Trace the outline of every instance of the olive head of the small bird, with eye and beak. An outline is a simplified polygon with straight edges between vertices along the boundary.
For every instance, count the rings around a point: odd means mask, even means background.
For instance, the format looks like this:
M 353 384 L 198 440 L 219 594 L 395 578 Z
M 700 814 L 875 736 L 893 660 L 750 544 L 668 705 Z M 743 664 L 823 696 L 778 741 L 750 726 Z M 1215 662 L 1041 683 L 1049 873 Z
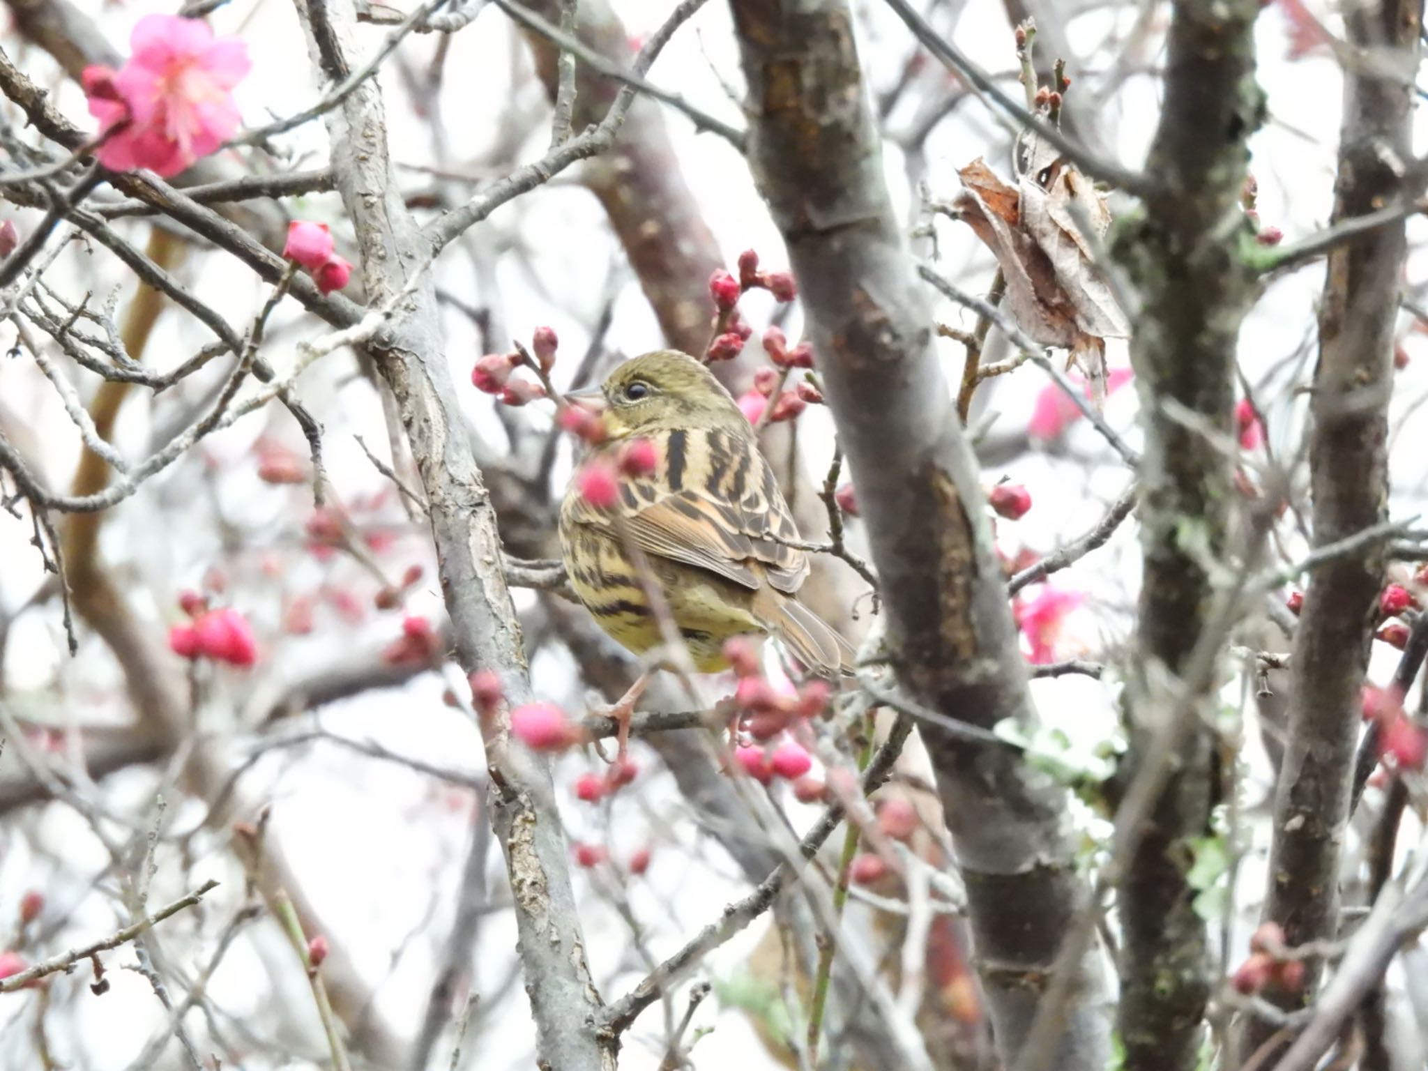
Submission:
M 655 350 L 625 361 L 587 398 L 604 410 L 605 431 L 615 440 L 668 428 L 748 431 L 748 421 L 724 386 L 678 350 Z

